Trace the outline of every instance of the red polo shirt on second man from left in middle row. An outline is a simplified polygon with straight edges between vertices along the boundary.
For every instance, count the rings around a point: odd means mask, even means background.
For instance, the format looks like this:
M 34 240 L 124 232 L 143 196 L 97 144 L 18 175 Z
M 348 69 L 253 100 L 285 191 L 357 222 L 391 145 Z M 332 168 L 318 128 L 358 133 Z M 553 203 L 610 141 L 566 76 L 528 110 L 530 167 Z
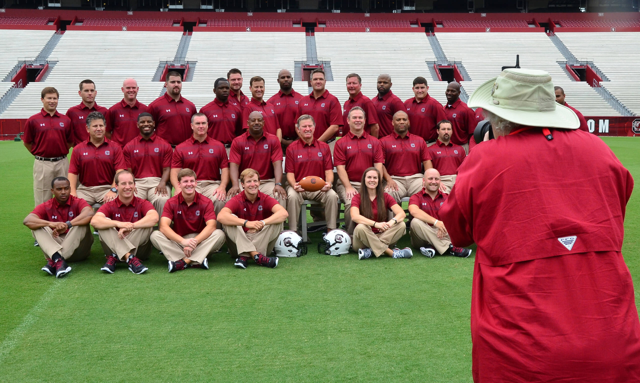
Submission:
M 162 177 L 163 168 L 171 167 L 173 149 L 156 133 L 149 139 L 138 134 L 124 146 L 122 153 L 135 178 Z

